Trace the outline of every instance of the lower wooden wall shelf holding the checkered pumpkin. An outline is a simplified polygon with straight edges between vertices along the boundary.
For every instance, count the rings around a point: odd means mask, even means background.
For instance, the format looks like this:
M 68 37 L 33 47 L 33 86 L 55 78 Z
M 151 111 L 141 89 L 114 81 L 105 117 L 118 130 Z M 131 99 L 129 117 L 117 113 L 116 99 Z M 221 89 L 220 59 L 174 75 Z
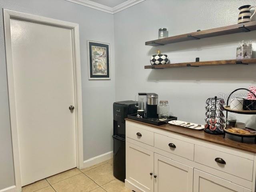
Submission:
M 199 66 L 213 66 L 213 65 L 233 65 L 233 64 L 256 64 L 256 59 L 242 59 L 242 60 L 216 60 L 216 61 L 200 61 L 187 63 L 171 63 L 164 65 L 146 65 L 145 69 L 165 69 L 178 67 L 199 67 Z

